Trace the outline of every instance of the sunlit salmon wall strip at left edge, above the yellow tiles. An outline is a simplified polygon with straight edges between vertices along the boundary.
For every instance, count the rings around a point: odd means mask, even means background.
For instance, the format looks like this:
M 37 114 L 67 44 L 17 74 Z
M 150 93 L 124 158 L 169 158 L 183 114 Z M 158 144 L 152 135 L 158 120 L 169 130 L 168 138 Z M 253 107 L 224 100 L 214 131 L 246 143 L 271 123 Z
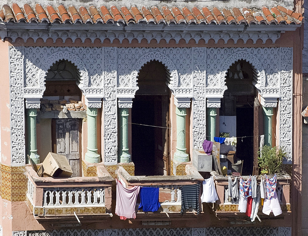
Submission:
M 0 41 L 1 99 L 0 99 L 0 126 L 1 126 L 1 163 L 11 164 L 11 137 L 10 137 L 10 69 L 9 43 Z

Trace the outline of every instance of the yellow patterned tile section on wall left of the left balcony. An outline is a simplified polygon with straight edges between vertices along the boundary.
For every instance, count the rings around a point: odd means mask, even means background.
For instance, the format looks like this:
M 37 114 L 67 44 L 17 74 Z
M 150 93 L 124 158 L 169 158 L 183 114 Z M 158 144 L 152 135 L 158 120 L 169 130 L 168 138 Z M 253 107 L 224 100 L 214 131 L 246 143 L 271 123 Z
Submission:
M 1 198 L 8 201 L 26 201 L 28 189 L 24 166 L 1 166 Z

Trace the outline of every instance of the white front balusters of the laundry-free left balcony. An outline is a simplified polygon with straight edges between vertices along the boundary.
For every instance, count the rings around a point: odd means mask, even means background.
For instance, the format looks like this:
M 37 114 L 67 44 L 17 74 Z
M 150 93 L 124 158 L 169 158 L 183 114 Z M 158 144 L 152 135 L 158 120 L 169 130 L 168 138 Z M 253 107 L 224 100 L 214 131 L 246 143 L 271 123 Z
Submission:
M 43 206 L 104 205 L 104 188 L 44 189 Z

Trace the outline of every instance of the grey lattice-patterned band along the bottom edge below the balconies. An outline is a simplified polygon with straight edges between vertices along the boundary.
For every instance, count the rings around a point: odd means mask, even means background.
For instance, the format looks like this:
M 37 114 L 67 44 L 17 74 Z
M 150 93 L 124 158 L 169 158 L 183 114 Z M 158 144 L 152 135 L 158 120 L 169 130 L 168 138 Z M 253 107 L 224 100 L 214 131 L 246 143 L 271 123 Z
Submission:
M 14 231 L 17 232 L 17 231 Z M 18 231 L 26 232 L 26 231 Z M 108 230 L 37 230 L 27 231 L 28 236 L 291 236 L 290 227 L 209 227 L 209 228 L 147 228 Z M 16 234 L 16 236 L 26 234 Z M 15 236 L 13 234 L 13 236 Z

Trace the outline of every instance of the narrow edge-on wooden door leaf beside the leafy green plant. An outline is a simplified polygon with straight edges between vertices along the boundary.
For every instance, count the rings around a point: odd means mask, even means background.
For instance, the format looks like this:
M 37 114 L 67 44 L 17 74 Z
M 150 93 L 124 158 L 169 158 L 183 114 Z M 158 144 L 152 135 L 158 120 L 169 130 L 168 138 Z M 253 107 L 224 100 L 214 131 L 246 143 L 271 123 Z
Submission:
M 259 175 L 258 150 L 259 150 L 259 108 L 257 98 L 253 103 L 253 175 Z

